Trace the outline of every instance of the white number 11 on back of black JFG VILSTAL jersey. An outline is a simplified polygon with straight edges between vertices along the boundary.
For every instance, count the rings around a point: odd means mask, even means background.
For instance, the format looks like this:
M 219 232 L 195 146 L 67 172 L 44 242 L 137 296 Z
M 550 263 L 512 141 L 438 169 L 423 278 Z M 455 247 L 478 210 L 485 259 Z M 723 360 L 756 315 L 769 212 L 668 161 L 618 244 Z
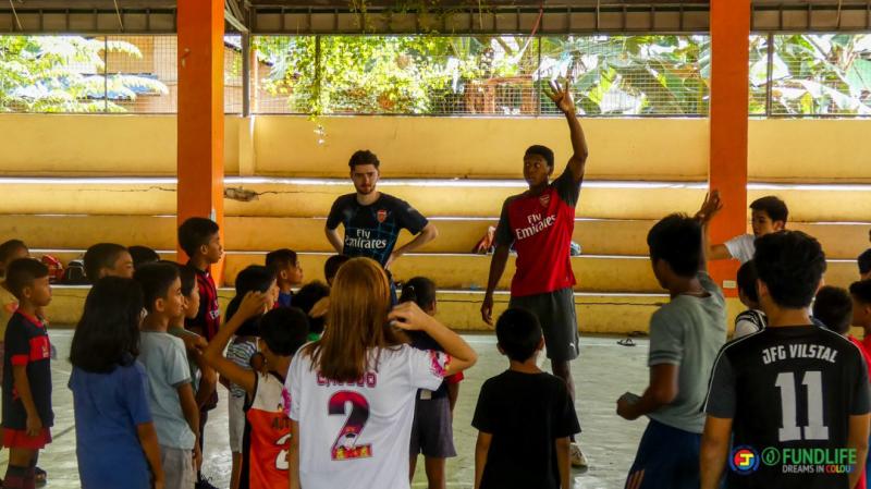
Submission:
M 781 389 L 782 426 L 780 441 L 827 440 L 829 428 L 823 425 L 823 376 L 819 370 L 805 372 L 801 384 L 808 388 L 808 426 L 798 426 L 796 412 L 796 375 L 784 371 L 774 383 Z

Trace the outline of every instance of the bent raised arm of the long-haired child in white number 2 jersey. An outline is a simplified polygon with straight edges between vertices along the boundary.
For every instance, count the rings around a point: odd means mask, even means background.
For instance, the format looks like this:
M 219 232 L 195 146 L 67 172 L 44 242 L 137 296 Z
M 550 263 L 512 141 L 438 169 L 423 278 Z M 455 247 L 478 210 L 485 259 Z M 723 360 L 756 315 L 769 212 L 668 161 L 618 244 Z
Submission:
M 451 355 L 451 363 L 444 370 L 444 377 L 461 372 L 478 362 L 478 354 L 465 342 L 459 334 L 424 313 L 414 302 L 397 305 L 388 315 L 388 320 L 397 328 L 409 331 L 424 331 L 436 340 L 444 352 Z

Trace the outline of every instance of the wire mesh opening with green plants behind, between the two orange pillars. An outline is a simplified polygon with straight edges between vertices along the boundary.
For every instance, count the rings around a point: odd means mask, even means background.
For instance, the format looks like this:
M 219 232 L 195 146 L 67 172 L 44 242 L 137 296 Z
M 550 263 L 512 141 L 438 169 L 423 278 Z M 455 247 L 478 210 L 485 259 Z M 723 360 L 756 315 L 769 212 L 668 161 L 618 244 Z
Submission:
M 260 86 L 271 98 L 261 96 L 259 112 L 553 114 L 543 88 L 572 80 L 589 115 L 708 113 L 707 36 L 260 39 L 258 58 L 270 66 Z

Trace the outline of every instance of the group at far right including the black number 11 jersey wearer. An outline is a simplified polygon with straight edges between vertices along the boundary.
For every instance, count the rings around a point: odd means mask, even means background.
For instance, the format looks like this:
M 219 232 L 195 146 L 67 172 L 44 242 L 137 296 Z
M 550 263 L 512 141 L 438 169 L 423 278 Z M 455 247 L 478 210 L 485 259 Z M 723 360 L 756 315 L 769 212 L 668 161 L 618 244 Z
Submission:
M 619 416 L 650 419 L 626 488 L 864 489 L 871 250 L 859 257 L 860 281 L 849 291 L 823 286 L 822 246 L 786 230 L 783 200 L 753 201 L 753 234 L 709 246 L 707 225 L 721 207 L 713 193 L 695 217 L 668 216 L 648 234 L 654 274 L 672 299 L 651 318 L 649 387 L 617 401 Z M 723 293 L 707 272 L 714 258 L 743 262 L 737 284 L 747 310 L 729 342 Z M 862 341 L 850 326 L 863 328 Z M 760 465 L 766 448 L 849 450 L 854 462 L 812 472 Z M 752 454 L 749 465 L 741 451 Z

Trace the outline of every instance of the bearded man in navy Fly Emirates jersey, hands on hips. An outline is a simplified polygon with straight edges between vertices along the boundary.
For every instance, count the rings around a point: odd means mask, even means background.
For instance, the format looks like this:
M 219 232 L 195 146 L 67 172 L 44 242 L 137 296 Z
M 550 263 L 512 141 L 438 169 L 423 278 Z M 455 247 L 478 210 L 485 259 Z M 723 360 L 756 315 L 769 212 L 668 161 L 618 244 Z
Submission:
M 335 199 L 324 231 L 336 253 L 371 258 L 389 268 L 396 258 L 434 240 L 439 231 L 405 200 L 378 192 L 380 164 L 368 149 L 352 155 L 348 167 L 357 192 Z M 338 231 L 340 223 L 345 228 L 344 237 Z M 394 249 L 403 229 L 416 237 Z

